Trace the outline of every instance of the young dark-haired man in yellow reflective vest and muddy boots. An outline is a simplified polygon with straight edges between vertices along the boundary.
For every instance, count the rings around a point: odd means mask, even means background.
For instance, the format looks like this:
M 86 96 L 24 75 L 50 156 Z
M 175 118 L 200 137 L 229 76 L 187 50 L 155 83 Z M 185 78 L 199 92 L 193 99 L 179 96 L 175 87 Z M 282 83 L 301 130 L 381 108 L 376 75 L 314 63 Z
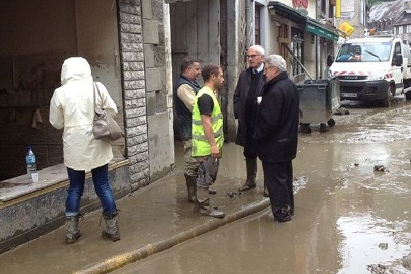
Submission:
M 210 206 L 210 186 L 219 171 L 219 159 L 223 147 L 223 114 L 215 90 L 224 83 L 223 70 L 219 66 L 205 66 L 201 75 L 204 87 L 199 90 L 192 107 L 192 157 L 200 162 L 197 176 L 195 212 L 203 216 L 223 218 L 224 212 Z

